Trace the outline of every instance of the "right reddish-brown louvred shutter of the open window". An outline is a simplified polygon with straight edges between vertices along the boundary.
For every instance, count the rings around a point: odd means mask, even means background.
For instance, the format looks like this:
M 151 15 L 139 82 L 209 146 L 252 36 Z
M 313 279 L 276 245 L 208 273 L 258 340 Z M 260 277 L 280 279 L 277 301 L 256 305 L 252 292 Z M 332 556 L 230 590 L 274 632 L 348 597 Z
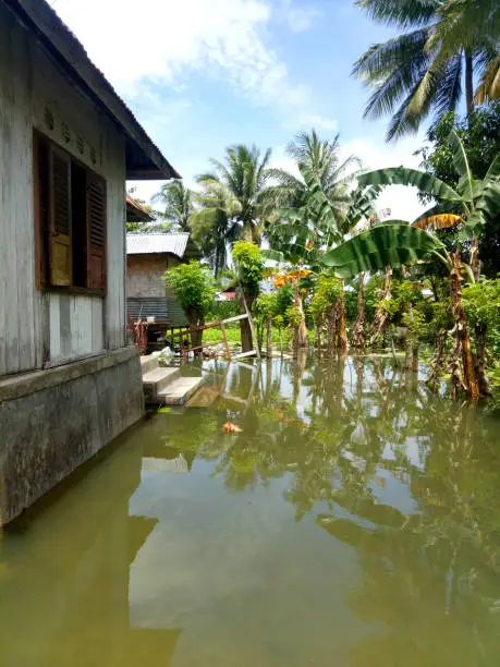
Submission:
M 87 287 L 106 289 L 106 182 L 87 172 Z

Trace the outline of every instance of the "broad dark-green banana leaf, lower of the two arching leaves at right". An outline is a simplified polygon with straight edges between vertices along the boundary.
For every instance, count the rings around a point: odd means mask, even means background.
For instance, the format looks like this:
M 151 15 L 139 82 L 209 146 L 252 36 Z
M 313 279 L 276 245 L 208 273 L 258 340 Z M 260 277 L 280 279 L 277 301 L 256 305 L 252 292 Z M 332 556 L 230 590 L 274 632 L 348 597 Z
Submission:
M 340 278 L 352 278 L 363 271 L 411 264 L 441 253 L 446 253 L 444 245 L 432 234 L 407 222 L 391 220 L 325 253 L 321 264 L 333 268 Z

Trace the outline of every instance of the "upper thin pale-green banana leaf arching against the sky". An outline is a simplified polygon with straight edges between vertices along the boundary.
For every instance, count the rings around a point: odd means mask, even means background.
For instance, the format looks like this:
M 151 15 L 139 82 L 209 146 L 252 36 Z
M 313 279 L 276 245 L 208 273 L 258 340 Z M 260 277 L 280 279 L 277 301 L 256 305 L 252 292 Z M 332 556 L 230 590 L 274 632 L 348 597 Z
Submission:
M 359 185 L 414 185 L 420 192 L 425 192 L 439 199 L 460 202 L 462 196 L 431 173 L 408 169 L 407 167 L 391 167 L 389 169 L 376 169 L 362 173 L 357 179 Z

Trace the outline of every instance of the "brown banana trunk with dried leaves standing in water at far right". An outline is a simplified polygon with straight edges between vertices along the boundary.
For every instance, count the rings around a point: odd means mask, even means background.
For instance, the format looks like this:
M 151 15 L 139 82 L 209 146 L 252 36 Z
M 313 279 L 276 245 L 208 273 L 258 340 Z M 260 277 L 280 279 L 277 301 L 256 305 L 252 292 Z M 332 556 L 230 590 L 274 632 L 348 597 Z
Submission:
M 479 398 L 479 387 L 476 377 L 476 364 L 474 363 L 474 355 L 471 348 L 471 339 L 468 337 L 467 331 L 467 320 L 465 317 L 465 311 L 462 305 L 462 288 L 460 286 L 461 281 L 461 259 L 460 252 L 452 253 L 451 255 L 453 260 L 453 269 L 450 274 L 450 287 L 451 287 L 451 305 L 453 313 L 453 320 L 455 323 L 454 326 L 454 336 L 455 336 L 455 344 L 453 345 L 453 374 L 452 378 L 455 384 L 455 391 L 458 389 L 458 384 L 462 384 L 465 389 L 467 397 L 472 400 L 477 400 Z M 462 356 L 462 367 L 463 367 L 463 377 L 461 378 L 458 375 L 458 355 Z

